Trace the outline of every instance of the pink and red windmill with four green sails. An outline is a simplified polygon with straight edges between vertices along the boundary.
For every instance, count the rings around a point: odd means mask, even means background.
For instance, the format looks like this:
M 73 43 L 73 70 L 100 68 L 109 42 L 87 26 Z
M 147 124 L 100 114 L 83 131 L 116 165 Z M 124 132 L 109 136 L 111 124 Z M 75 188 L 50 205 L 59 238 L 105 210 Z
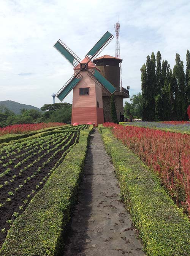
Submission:
M 80 124 L 104 122 L 102 89 L 107 95 L 115 92 L 116 88 L 100 73 L 92 62 L 108 45 L 114 36 L 108 31 L 87 53 L 84 60 L 73 53 L 70 48 L 58 40 L 54 47 L 74 66 L 74 74 L 57 92 L 56 96 L 62 101 L 73 90 L 72 121 Z

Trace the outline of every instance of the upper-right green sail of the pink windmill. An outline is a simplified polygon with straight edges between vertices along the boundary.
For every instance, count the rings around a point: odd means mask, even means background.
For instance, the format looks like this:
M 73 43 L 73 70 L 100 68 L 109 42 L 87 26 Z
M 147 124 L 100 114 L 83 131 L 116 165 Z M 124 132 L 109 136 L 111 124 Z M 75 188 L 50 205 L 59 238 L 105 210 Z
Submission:
M 109 42 L 114 38 L 114 36 L 107 31 L 103 37 L 94 45 L 94 47 L 85 56 L 89 61 L 95 59 L 98 54 L 108 45 Z

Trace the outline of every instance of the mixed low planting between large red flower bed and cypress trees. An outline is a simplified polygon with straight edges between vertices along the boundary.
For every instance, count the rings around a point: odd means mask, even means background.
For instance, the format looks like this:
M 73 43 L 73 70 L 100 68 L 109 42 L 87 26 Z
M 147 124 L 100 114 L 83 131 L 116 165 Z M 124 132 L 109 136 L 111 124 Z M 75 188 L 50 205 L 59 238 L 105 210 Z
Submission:
M 127 126 L 147 127 L 151 129 L 166 130 L 169 132 L 180 132 L 190 134 L 190 124 L 188 121 L 166 121 L 166 122 L 122 122 Z

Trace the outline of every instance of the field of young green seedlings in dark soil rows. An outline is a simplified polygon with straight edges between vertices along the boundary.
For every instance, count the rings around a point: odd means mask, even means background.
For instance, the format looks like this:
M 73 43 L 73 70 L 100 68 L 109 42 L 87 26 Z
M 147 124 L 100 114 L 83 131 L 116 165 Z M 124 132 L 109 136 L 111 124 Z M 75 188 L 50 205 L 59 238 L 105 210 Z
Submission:
M 51 132 L 0 145 L 0 244 L 13 221 L 78 143 L 80 131 L 88 127 L 56 127 Z

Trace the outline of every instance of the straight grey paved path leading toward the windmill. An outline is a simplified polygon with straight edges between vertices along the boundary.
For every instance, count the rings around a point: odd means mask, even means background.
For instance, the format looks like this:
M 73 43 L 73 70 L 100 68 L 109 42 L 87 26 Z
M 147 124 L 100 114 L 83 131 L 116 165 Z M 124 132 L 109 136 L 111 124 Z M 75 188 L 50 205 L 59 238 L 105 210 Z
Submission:
M 114 167 L 95 129 L 64 256 L 145 255 L 119 193 Z

